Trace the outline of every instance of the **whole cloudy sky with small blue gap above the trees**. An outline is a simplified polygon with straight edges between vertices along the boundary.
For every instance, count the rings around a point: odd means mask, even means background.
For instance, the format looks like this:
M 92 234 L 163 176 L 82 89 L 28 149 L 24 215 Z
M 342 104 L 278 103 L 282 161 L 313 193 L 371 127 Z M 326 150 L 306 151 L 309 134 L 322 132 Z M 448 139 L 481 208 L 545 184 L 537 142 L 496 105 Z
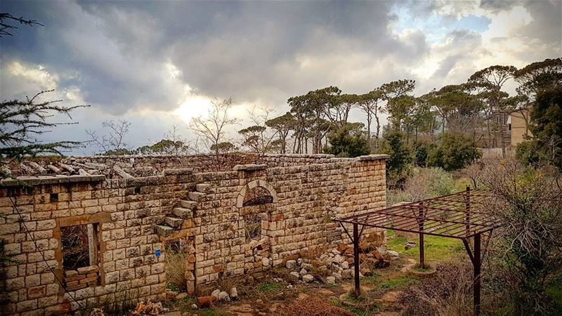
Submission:
M 233 98 L 240 117 L 253 105 L 283 114 L 287 98 L 329 85 L 365 93 L 415 79 L 421 94 L 490 65 L 560 57 L 561 4 L 3 0 L 0 12 L 44 27 L 0 39 L 0 95 L 55 88 L 51 98 L 91 105 L 42 140 L 87 140 L 86 129 L 126 119 L 138 147 L 174 125 L 189 136 L 190 117 L 214 99 Z

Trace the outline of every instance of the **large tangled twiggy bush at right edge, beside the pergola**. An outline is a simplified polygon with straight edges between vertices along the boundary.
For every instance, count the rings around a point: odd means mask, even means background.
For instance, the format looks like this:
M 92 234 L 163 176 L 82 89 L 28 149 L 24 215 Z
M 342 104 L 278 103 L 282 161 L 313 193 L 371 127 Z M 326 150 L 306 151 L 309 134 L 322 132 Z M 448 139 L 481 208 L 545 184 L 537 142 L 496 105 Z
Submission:
M 493 197 L 487 209 L 503 223 L 491 275 L 507 287 L 507 309 L 515 315 L 554 315 L 547 289 L 562 273 L 560 174 L 512 159 L 486 166 L 483 173 Z

